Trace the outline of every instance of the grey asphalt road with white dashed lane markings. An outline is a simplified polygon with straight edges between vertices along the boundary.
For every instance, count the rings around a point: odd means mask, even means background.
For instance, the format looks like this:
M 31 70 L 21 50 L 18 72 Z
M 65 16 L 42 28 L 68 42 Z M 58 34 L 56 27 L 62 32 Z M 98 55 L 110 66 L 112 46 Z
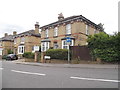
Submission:
M 3 61 L 2 88 L 118 88 L 118 69 L 41 67 Z

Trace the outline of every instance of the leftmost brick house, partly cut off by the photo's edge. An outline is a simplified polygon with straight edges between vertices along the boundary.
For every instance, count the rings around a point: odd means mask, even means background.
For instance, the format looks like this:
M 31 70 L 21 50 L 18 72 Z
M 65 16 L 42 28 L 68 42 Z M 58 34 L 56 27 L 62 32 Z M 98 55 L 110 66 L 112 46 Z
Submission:
M 0 38 L 0 56 L 7 55 L 8 51 L 13 51 L 14 48 L 14 36 L 16 32 L 13 32 L 13 35 L 8 35 L 5 33 L 4 37 Z

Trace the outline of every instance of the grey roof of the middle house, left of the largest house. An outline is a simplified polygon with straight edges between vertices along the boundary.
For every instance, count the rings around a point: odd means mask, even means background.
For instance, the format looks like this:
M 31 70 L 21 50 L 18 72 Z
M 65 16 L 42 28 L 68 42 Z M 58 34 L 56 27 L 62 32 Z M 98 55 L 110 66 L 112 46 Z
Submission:
M 35 30 L 29 30 L 29 31 L 25 31 L 22 32 L 20 34 L 17 34 L 14 38 L 16 37 L 22 37 L 22 36 L 36 36 L 36 37 L 40 37 L 40 34 L 35 34 Z

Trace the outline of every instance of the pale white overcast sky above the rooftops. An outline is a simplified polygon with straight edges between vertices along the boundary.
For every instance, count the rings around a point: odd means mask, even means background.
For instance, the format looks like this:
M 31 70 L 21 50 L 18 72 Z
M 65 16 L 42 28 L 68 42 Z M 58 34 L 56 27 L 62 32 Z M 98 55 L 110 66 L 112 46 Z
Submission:
M 96 24 L 103 23 L 105 32 L 118 31 L 119 0 L 0 0 L 0 37 L 13 31 L 21 33 L 64 17 L 83 15 Z

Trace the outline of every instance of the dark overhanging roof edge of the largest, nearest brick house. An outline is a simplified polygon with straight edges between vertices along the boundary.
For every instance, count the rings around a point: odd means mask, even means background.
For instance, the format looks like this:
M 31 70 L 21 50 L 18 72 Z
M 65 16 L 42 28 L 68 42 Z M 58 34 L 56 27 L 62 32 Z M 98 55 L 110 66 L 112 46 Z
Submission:
M 42 28 L 46 29 L 46 28 L 49 28 L 49 27 L 55 27 L 56 25 L 61 25 L 61 24 L 64 24 L 64 23 L 69 23 L 69 22 L 75 21 L 75 20 L 85 21 L 87 24 L 91 24 L 91 25 L 95 26 L 95 28 L 97 28 L 97 29 L 104 30 L 103 27 L 101 27 L 100 25 L 95 24 L 94 22 L 90 21 L 89 19 L 85 18 L 82 15 L 67 17 L 67 18 L 64 18 L 63 20 L 58 20 L 58 21 L 50 23 L 48 25 L 44 25 L 44 26 L 42 26 L 40 28 L 41 29 Z

